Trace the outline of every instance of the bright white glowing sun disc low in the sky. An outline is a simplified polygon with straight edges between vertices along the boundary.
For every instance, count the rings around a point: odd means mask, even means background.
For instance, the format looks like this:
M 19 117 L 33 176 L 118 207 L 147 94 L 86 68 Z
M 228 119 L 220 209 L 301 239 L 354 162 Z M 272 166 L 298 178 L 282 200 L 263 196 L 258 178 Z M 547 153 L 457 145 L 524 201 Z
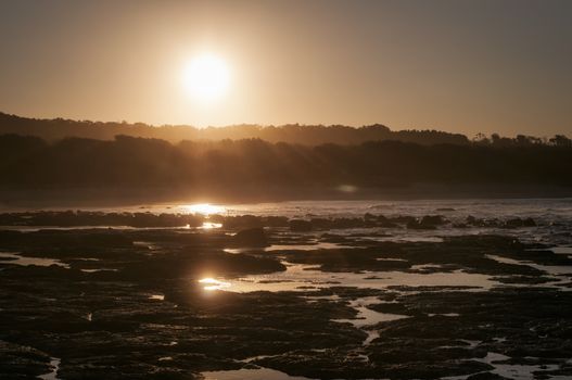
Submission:
M 230 87 L 230 69 L 221 58 L 203 53 L 183 68 L 182 84 L 196 101 L 212 103 L 223 98 Z

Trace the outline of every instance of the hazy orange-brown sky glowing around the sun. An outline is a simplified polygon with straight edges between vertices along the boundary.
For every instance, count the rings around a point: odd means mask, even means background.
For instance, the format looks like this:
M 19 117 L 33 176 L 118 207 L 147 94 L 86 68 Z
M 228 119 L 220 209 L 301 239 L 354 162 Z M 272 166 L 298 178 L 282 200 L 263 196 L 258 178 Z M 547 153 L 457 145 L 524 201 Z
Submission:
M 0 0 L 0 111 L 572 135 L 572 1 Z M 227 96 L 182 86 L 201 52 Z

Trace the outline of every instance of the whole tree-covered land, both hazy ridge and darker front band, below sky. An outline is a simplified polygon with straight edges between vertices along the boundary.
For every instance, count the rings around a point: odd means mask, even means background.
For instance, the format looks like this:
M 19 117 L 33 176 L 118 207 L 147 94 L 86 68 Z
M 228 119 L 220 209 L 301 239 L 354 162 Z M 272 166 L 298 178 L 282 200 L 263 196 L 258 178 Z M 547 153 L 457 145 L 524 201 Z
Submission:
M 392 131 L 382 125 L 198 129 L 0 113 L 0 189 L 398 188 L 572 185 L 565 136 Z M 242 190 L 241 190 L 242 189 Z

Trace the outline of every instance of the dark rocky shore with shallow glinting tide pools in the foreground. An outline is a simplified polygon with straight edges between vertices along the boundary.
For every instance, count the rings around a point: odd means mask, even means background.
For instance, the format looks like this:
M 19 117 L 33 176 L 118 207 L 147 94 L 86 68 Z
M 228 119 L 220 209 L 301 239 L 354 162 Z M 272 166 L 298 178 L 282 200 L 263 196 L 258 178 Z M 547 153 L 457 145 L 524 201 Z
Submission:
M 572 376 L 572 258 L 471 233 L 533 219 L 40 212 L 2 214 L 0 225 L 2 379 Z M 461 232 L 386 239 L 444 226 Z M 339 281 L 265 290 L 293 266 Z M 386 280 L 402 274 L 487 282 Z

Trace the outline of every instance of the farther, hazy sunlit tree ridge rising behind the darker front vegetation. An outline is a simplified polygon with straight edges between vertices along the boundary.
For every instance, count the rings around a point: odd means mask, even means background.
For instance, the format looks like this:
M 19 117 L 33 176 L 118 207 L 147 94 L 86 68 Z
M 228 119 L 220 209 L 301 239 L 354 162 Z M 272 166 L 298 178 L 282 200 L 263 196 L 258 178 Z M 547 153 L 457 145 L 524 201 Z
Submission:
M 354 128 L 348 126 L 301 126 L 279 127 L 257 125 L 236 125 L 228 127 L 194 128 L 190 126 L 153 127 L 142 123 L 99 123 L 89 121 L 35 119 L 0 113 L 0 135 L 17 134 L 37 136 L 48 141 L 66 137 L 80 137 L 98 140 L 113 140 L 117 135 L 144 137 L 179 142 L 182 140 L 242 140 L 262 139 L 269 142 L 289 142 L 306 145 L 322 143 L 357 144 L 366 141 L 398 140 L 421 144 L 457 143 L 467 144 L 469 139 L 459 134 L 438 130 L 399 130 L 376 124 Z

